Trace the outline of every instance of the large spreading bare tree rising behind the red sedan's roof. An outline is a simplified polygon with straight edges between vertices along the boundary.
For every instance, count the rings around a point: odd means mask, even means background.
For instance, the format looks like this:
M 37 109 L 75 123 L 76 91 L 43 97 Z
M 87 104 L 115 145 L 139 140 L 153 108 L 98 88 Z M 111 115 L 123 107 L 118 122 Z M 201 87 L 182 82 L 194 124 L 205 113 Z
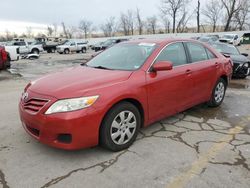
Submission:
M 175 33 L 176 18 L 180 10 L 187 4 L 188 0 L 161 0 L 160 10 L 165 16 L 171 16 L 173 33 Z

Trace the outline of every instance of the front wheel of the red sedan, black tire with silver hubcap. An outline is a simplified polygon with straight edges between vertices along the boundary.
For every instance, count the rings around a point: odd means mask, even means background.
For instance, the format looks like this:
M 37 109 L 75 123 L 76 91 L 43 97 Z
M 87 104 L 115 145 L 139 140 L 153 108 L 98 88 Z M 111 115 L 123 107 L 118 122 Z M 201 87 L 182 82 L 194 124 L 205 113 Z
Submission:
M 124 121 L 122 121 L 124 117 Z M 121 151 L 133 144 L 141 125 L 139 110 L 129 102 L 121 102 L 106 114 L 100 128 L 100 144 L 112 151 Z M 113 133 L 113 137 L 112 137 Z

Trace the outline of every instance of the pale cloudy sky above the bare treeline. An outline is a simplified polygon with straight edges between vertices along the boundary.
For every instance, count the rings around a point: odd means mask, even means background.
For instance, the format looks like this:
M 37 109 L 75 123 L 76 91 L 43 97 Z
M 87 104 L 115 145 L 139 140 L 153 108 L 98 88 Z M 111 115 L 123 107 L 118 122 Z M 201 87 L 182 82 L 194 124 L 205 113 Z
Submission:
M 196 2 L 196 0 L 191 0 Z M 201 0 L 205 3 L 206 0 Z M 161 0 L 1 0 L 0 33 L 6 30 L 21 34 L 27 27 L 32 31 L 46 32 L 53 23 L 77 26 L 82 18 L 98 26 L 105 19 L 128 9 L 141 10 L 143 18 L 157 15 Z M 195 4 L 196 6 L 196 4 Z

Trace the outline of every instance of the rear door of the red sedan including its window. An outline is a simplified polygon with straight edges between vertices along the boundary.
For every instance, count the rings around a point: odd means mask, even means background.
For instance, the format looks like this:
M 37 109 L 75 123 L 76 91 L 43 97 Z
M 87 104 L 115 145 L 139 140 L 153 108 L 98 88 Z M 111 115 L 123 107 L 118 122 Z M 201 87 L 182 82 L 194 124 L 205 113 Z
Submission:
M 217 79 L 219 68 L 218 58 L 205 46 L 195 42 L 186 42 L 190 69 L 194 82 L 193 99 L 196 104 L 205 102 L 210 98 L 213 86 Z M 194 105 L 194 104 L 190 104 Z

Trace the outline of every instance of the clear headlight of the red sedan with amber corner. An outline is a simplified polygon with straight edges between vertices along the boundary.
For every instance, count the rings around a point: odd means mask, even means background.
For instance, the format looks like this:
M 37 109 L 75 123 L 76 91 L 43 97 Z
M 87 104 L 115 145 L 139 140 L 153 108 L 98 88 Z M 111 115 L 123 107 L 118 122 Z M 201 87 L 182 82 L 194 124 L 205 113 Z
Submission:
M 53 114 L 59 112 L 70 112 L 87 108 L 95 103 L 99 96 L 81 97 L 72 99 L 63 99 L 52 104 L 45 114 Z

